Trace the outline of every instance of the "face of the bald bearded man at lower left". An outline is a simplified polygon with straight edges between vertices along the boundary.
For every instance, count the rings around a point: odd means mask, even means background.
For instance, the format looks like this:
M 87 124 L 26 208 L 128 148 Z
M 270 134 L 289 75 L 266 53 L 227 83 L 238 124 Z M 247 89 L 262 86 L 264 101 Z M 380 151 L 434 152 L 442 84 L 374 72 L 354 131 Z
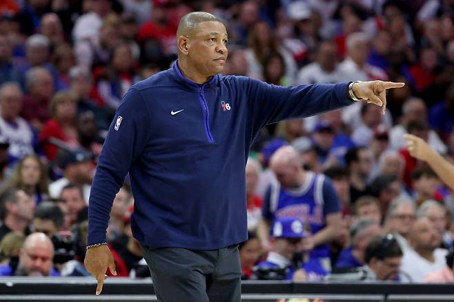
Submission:
M 18 270 L 25 276 L 49 276 L 54 251 L 52 244 L 36 243 L 19 252 Z

